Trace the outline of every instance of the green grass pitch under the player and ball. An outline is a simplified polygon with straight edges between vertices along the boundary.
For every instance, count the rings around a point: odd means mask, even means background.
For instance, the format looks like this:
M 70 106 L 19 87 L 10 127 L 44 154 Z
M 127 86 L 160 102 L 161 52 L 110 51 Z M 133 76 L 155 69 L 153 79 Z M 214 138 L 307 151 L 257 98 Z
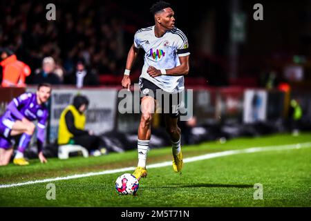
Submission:
M 311 133 L 238 138 L 225 144 L 183 146 L 184 158 L 256 146 L 311 142 Z M 171 160 L 171 148 L 151 149 L 148 164 Z M 0 184 L 120 169 L 135 166 L 137 151 L 100 157 L 30 160 L 29 166 L 0 167 Z M 148 166 L 147 166 L 148 169 Z M 130 172 L 130 171 L 129 171 Z M 125 173 L 125 172 L 124 172 Z M 311 206 L 311 145 L 282 151 L 241 153 L 148 169 L 138 194 L 118 195 L 115 180 L 122 173 L 59 180 L 56 199 L 47 200 L 46 183 L 0 188 L 0 206 Z M 263 200 L 254 200 L 254 184 L 263 185 Z

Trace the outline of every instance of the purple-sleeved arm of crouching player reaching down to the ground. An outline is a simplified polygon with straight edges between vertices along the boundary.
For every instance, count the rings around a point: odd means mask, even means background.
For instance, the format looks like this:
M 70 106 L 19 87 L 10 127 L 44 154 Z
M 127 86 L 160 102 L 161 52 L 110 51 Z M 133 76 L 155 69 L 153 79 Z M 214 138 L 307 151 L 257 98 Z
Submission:
M 44 140 L 46 139 L 46 120 L 48 119 L 47 111 L 44 112 L 43 117 L 39 118 L 37 124 L 37 148 L 38 148 L 38 157 L 41 163 L 46 163 L 46 157 L 43 154 Z

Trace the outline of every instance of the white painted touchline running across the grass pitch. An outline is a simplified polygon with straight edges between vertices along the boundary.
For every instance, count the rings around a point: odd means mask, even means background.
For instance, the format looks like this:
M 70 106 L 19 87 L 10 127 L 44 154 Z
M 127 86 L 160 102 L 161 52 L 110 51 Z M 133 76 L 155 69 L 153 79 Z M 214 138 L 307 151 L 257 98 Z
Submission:
M 222 151 L 222 152 L 217 152 L 217 153 L 207 153 L 205 155 L 199 155 L 196 157 L 188 157 L 188 158 L 184 159 L 184 163 L 196 162 L 199 160 L 207 160 L 207 159 L 216 158 L 216 157 L 224 157 L 227 155 L 236 155 L 236 154 L 240 154 L 240 153 L 256 153 L 256 152 L 265 152 L 265 151 L 285 151 L 285 150 L 290 150 L 290 149 L 310 148 L 310 147 L 311 147 L 311 142 L 301 143 L 301 144 L 287 144 L 287 145 L 279 145 L 279 146 L 252 147 L 252 148 L 247 148 L 247 149 L 242 149 L 242 150 Z M 162 163 L 158 163 L 158 164 L 150 164 L 148 166 L 148 169 L 159 168 L 159 167 L 164 167 L 164 166 L 171 166 L 171 161 L 162 162 Z M 59 180 L 72 180 L 72 179 L 77 179 L 77 178 L 82 178 L 82 177 L 91 177 L 94 175 L 121 173 L 121 172 L 125 172 L 125 171 L 133 171 L 134 169 L 135 169 L 135 167 L 132 166 L 132 167 L 126 167 L 126 168 L 122 168 L 122 169 L 114 169 L 114 170 L 109 170 L 109 171 L 100 171 L 100 172 L 92 172 L 92 173 L 82 173 L 82 174 L 68 175 L 66 177 L 48 178 L 48 179 L 44 179 L 44 180 L 32 180 L 32 181 L 28 181 L 28 182 L 19 182 L 19 183 L 13 183 L 13 184 L 0 184 L 0 189 L 1 188 L 10 188 L 10 187 L 14 187 L 14 186 L 39 184 L 39 183 L 44 183 L 44 182 L 54 182 L 54 181 L 59 181 Z

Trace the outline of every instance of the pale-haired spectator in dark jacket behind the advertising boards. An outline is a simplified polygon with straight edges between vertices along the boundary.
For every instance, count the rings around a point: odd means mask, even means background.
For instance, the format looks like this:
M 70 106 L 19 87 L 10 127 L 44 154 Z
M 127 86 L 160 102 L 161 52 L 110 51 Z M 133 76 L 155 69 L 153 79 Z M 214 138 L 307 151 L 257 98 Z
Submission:
M 61 84 L 61 80 L 54 73 L 55 70 L 55 61 L 53 57 L 45 57 L 42 61 L 42 70 L 39 70 L 39 73 L 35 75 L 32 79 L 32 84 Z

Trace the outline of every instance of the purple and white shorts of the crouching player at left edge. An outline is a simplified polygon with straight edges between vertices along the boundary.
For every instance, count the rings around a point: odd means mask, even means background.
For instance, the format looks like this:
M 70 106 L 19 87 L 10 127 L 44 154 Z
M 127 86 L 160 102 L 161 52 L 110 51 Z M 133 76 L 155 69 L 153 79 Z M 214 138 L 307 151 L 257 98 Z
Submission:
M 14 123 L 15 120 L 10 117 L 0 117 L 0 148 L 8 149 L 12 146 L 10 133 Z

